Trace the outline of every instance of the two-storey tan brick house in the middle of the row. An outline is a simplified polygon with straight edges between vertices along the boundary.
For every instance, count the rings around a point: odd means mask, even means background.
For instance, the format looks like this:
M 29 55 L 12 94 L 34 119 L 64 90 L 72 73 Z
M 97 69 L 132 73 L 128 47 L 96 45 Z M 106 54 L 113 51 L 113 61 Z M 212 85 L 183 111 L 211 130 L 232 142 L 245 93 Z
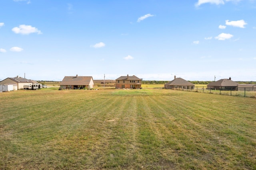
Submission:
M 132 88 L 140 89 L 141 88 L 141 79 L 136 76 L 121 76 L 116 79 L 116 88 Z

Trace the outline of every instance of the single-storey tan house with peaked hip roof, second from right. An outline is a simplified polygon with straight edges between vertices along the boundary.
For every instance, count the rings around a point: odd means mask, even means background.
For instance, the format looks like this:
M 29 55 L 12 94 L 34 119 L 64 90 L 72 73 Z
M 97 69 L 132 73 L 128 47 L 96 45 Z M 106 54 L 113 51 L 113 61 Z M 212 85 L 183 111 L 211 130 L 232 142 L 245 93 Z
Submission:
M 174 76 L 174 80 L 167 82 L 164 84 L 165 89 L 194 89 L 195 85 L 183 78 L 176 78 Z

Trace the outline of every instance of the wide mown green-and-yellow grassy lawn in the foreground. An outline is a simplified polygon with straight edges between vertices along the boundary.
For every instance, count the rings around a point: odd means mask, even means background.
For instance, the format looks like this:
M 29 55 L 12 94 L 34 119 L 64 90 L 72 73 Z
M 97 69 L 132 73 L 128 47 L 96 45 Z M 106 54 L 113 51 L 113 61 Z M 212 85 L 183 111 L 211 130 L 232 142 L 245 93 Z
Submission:
M 48 88 L 0 102 L 0 169 L 256 169 L 255 98 Z

